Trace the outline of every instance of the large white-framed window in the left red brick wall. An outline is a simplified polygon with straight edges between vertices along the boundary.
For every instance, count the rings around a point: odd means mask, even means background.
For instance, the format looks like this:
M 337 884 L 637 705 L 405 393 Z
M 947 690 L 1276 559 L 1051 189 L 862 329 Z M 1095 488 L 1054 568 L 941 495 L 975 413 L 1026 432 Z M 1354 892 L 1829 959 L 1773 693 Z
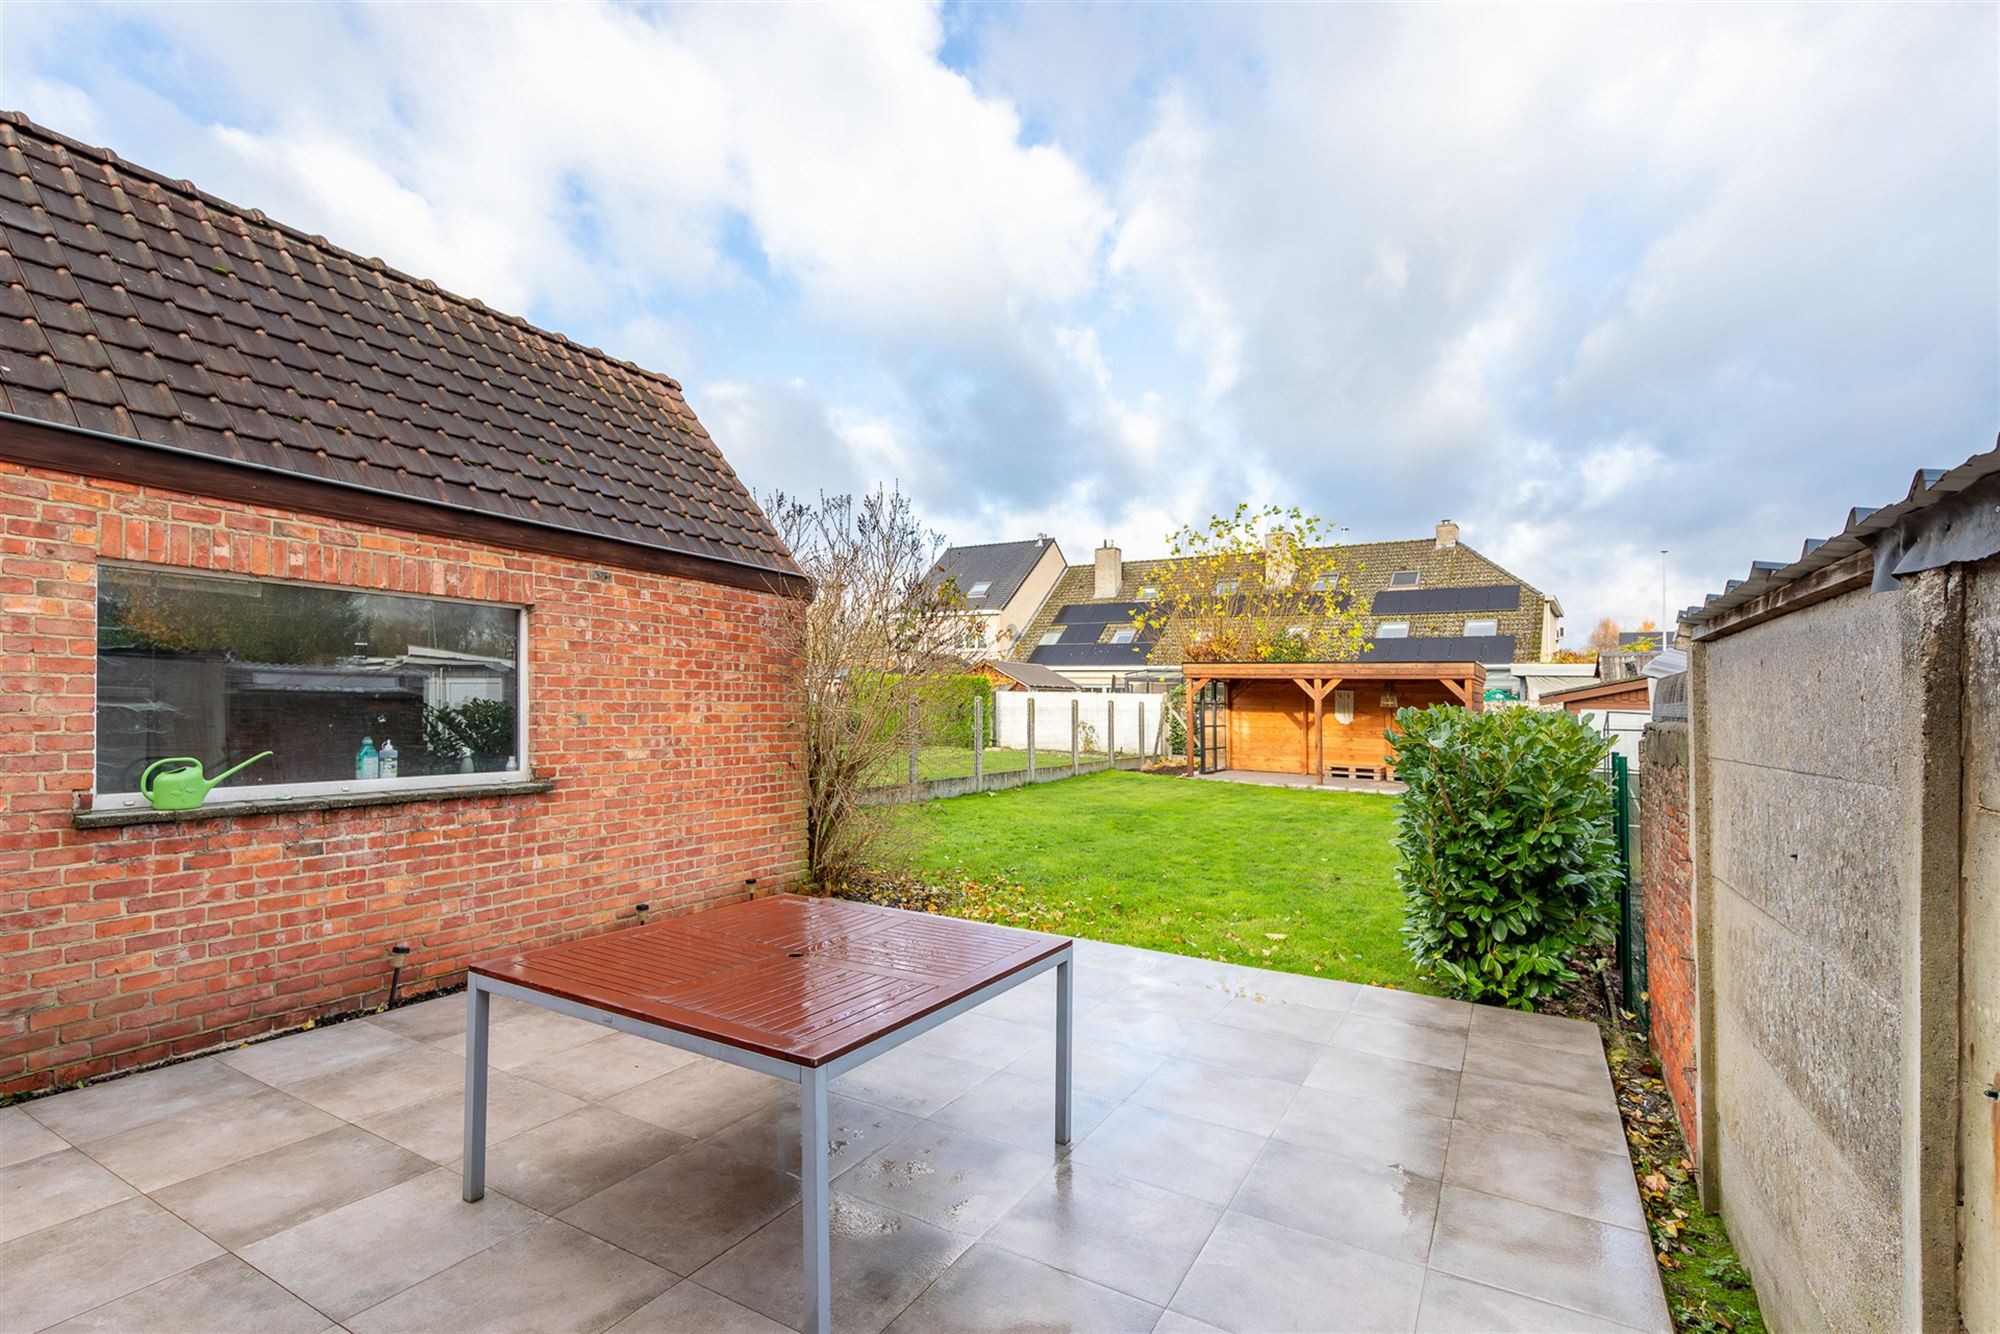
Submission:
M 514 606 L 102 566 L 98 804 L 264 750 L 208 802 L 520 778 L 522 642 Z

